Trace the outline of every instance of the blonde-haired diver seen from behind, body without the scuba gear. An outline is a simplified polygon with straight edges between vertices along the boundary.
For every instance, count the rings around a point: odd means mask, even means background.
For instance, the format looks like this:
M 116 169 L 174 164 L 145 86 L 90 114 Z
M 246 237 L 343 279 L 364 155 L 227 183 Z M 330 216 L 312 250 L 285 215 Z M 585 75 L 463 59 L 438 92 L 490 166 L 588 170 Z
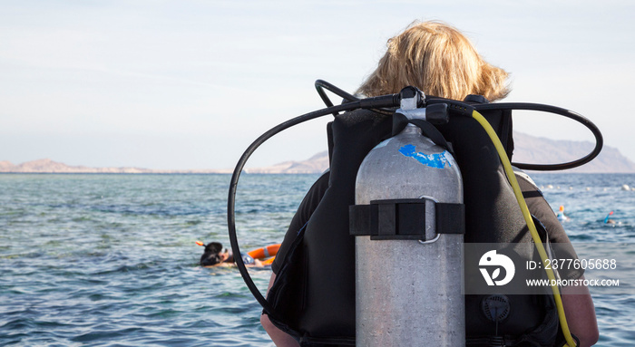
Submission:
M 439 22 L 424 22 L 411 24 L 402 34 L 388 40 L 386 54 L 357 92 L 377 96 L 396 93 L 412 85 L 425 95 L 464 100 L 469 94 L 479 94 L 489 101 L 496 101 L 509 92 L 506 78 L 507 72 L 486 63 L 458 30 Z M 306 226 L 327 188 L 328 178 L 325 175 L 318 179 L 298 207 L 278 260 L 272 265 L 269 289 L 275 282 L 289 246 Z M 545 204 L 546 201 L 534 200 L 532 206 Z M 552 242 L 569 242 L 562 228 L 549 231 Z M 580 288 L 576 289 L 576 293 L 580 293 Z M 567 294 L 564 288 L 562 302 L 572 333 L 580 339 L 581 346 L 590 346 L 597 342 L 598 329 L 591 295 L 586 288 L 582 289 L 583 294 Z M 260 321 L 276 345 L 298 345 L 294 338 L 273 325 L 267 314 L 263 314 Z

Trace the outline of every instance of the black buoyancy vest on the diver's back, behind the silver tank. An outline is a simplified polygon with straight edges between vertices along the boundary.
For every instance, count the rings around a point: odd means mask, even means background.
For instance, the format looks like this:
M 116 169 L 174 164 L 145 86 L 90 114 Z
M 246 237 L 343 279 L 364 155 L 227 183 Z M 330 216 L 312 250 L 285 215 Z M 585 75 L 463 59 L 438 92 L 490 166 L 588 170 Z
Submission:
M 505 112 L 482 113 L 511 156 L 511 117 Z M 531 236 L 483 128 L 470 118 L 453 118 L 437 128 L 453 144 L 464 179 L 465 242 L 523 243 L 526 247 L 517 252 L 532 259 Z M 337 116 L 331 130 L 328 188 L 290 246 L 268 296 L 276 310 L 271 321 L 302 345 L 355 344 L 355 239 L 348 232 L 348 207 L 355 204 L 357 169 L 376 144 L 391 136 L 392 118 L 350 111 Z M 557 317 L 554 321 L 552 303 L 545 296 L 512 295 L 517 316 L 498 324 L 499 335 L 552 345 Z M 480 295 L 465 296 L 467 342 L 476 345 L 493 332 L 493 322 L 481 313 L 481 300 Z

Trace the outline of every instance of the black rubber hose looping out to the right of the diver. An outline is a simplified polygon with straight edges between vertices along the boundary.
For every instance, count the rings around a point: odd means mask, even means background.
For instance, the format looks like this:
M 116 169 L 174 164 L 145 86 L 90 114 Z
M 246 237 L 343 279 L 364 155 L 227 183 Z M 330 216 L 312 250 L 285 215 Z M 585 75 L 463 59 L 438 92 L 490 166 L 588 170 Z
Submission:
M 581 165 L 584 165 L 594 159 L 600 154 L 602 146 L 604 144 L 604 140 L 602 138 L 602 134 L 598 127 L 588 120 L 586 117 L 581 114 L 575 113 L 573 111 L 569 111 L 566 109 L 562 109 L 560 107 L 555 107 L 551 105 L 544 105 L 541 103 L 527 103 L 527 102 L 501 102 L 501 103 L 488 103 L 488 104 L 480 104 L 480 105 L 472 105 L 475 110 L 526 110 L 526 111 L 543 111 L 549 113 L 559 114 L 563 117 L 575 120 L 581 123 L 588 130 L 591 130 L 591 133 L 595 137 L 595 148 L 591 150 L 589 154 L 582 157 L 581 159 L 561 163 L 561 164 L 527 164 L 527 163 L 516 163 L 513 162 L 513 166 L 519 169 L 531 169 L 537 171 L 556 171 L 563 169 L 573 169 L 577 168 Z

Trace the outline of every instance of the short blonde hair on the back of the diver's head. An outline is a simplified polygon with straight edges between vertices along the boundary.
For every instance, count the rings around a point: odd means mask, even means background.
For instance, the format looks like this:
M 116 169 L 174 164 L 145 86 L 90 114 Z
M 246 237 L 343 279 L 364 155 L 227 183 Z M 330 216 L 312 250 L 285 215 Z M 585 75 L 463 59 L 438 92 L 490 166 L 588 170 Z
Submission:
M 507 72 L 485 62 L 472 43 L 448 24 L 415 22 L 388 40 L 387 46 L 375 72 L 357 92 L 377 96 L 412 85 L 426 95 L 463 100 L 480 94 L 489 101 L 510 92 Z

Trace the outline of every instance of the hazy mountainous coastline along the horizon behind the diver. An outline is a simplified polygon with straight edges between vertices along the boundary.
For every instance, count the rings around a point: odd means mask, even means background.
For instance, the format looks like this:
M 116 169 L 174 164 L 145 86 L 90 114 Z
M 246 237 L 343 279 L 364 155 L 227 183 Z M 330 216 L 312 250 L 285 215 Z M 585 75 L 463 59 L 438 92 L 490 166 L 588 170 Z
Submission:
M 593 149 L 589 141 L 550 140 L 514 132 L 513 161 L 522 163 L 548 164 L 579 159 Z M 300 174 L 320 173 L 328 168 L 327 151 L 305 160 L 289 160 L 264 168 L 247 168 L 248 174 Z M 142 168 L 89 168 L 69 166 L 51 159 L 38 159 L 15 165 L 0 161 L 0 173 L 231 173 L 233 169 L 142 169 Z M 584 173 L 635 173 L 635 163 L 624 157 L 620 150 L 604 146 L 600 155 L 590 163 L 576 169 L 553 172 Z

